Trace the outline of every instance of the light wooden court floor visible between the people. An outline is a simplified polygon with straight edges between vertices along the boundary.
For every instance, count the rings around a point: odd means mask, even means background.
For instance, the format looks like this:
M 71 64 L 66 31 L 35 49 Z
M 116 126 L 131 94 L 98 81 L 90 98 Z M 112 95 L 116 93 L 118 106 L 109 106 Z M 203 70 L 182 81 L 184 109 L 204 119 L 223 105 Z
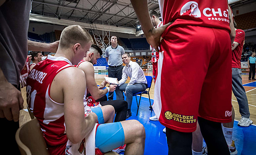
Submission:
M 152 76 L 151 71 L 145 71 L 144 73 L 145 73 L 145 75 Z M 106 74 L 107 73 L 95 73 L 95 80 L 96 80 L 97 84 L 101 84 L 101 82 L 104 80 L 104 76 L 107 76 Z M 254 123 L 256 123 L 256 80 L 248 80 L 248 73 L 243 74 L 242 78 L 243 78 L 243 84 L 247 85 L 247 86 L 244 86 L 244 88 L 245 88 L 248 103 L 249 103 L 249 111 L 251 114 L 250 118 L 252 119 L 252 121 Z M 128 83 L 128 82 L 129 82 L 129 78 L 126 83 Z M 148 95 L 143 95 L 143 96 L 148 97 Z M 24 99 L 24 109 L 26 109 L 27 103 L 26 103 L 26 88 L 25 87 L 22 88 L 22 97 Z M 150 88 L 150 99 L 154 99 L 154 82 L 152 82 L 152 86 Z M 232 105 L 235 110 L 235 120 L 239 121 L 241 115 L 239 113 L 239 106 L 238 106 L 236 97 L 234 96 L 233 93 L 232 93 Z M 24 123 L 26 123 L 29 120 L 30 120 L 30 116 L 29 116 L 28 112 L 26 112 L 24 110 L 20 110 L 20 125 L 23 125 Z

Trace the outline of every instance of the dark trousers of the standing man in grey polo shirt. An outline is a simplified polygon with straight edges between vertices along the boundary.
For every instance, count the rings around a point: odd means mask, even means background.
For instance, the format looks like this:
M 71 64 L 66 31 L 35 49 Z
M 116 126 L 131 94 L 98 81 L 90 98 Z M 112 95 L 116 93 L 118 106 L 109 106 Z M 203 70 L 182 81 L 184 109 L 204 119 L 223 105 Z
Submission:
M 123 71 L 123 66 L 118 66 L 118 67 L 108 67 L 108 77 L 115 77 L 117 78 L 117 80 L 121 80 L 122 79 L 122 71 Z M 115 92 L 115 93 L 119 93 L 119 92 Z M 114 93 L 108 93 L 108 100 L 113 100 L 114 97 Z M 124 95 L 123 95 L 123 99 L 124 99 Z

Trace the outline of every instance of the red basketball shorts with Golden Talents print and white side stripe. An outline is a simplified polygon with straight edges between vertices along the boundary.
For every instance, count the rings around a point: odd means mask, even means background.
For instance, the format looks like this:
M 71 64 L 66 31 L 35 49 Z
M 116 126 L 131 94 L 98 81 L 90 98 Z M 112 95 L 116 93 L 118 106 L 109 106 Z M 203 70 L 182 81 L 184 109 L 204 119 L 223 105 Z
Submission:
M 174 27 L 161 41 L 153 109 L 164 126 L 196 129 L 197 116 L 231 121 L 232 54 L 228 31 Z

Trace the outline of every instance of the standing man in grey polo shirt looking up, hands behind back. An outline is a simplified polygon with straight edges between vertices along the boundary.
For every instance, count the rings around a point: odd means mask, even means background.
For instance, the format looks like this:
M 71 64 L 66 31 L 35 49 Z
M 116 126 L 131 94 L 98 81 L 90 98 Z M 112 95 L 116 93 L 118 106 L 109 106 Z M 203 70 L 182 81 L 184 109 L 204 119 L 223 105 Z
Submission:
M 122 78 L 122 55 L 124 54 L 124 48 L 117 45 L 117 37 L 111 37 L 111 46 L 108 46 L 105 50 L 106 61 L 108 62 L 108 77 L 115 77 L 117 80 Z M 117 86 L 118 87 L 118 86 Z M 117 99 L 124 99 L 124 95 L 121 92 L 115 91 Z M 113 93 L 108 93 L 108 100 L 113 100 Z

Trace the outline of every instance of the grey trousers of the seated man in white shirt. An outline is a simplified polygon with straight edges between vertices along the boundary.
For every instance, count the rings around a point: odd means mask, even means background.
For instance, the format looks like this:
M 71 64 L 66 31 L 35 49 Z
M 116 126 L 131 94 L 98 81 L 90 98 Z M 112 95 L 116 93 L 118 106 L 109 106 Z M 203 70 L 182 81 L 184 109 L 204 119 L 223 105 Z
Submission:
M 116 92 L 119 91 L 120 93 L 123 93 L 123 91 L 126 91 L 126 101 L 128 103 L 128 109 L 131 109 L 132 106 L 132 95 L 134 93 L 138 93 L 140 91 L 144 91 L 147 88 L 147 84 L 132 84 L 130 86 L 127 86 L 128 84 L 122 84 L 119 86 L 119 88 L 116 88 Z M 119 94 L 119 93 L 118 93 Z M 120 99 L 122 96 L 117 95 L 117 99 Z

